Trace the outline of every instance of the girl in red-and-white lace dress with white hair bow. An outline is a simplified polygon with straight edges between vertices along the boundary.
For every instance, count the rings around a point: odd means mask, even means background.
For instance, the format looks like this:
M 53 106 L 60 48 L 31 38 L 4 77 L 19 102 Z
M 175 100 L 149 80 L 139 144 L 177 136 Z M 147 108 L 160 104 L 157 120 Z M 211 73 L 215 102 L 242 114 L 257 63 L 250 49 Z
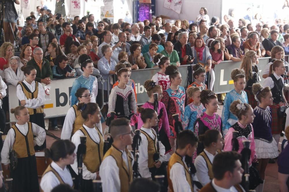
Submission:
M 168 75 L 164 74 L 166 68 L 170 65 L 170 59 L 159 53 L 155 55 L 153 62 L 159 66 L 160 71 L 153 75 L 151 79 L 155 81 L 157 85 L 160 85 L 162 90 L 165 91 L 171 85 Z

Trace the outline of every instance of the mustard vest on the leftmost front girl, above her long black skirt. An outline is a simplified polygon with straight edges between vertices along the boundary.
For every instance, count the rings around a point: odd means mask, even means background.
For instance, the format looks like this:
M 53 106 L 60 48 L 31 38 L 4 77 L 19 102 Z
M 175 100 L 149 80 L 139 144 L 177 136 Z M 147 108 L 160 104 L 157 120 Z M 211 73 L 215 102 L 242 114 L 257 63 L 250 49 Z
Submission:
M 15 141 L 13 144 L 13 150 L 17 154 L 18 158 L 24 158 L 28 156 L 35 155 L 34 143 L 33 143 L 33 132 L 32 123 L 28 122 L 28 132 L 27 135 L 23 135 L 16 125 L 12 126 L 15 132 Z

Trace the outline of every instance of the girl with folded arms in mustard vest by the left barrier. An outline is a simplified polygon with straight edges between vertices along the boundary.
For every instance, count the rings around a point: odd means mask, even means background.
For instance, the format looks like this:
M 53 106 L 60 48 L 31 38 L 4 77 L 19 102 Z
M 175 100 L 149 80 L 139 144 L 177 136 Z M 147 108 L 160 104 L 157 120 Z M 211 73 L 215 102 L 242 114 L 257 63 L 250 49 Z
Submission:
M 45 129 L 44 124 L 44 89 L 41 83 L 35 81 L 36 69 L 31 66 L 23 66 L 21 70 L 24 72 L 26 78 L 17 85 L 17 97 L 20 104 L 27 107 L 29 111 L 29 121 Z M 42 146 L 35 146 L 35 150 L 42 150 L 46 148 L 46 140 Z

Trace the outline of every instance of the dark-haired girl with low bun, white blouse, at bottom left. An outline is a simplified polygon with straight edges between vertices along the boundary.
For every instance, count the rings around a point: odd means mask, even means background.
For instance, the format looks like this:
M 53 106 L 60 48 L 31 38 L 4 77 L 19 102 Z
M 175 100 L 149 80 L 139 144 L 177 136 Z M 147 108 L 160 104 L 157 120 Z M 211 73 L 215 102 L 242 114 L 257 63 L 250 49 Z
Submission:
M 42 175 L 40 187 L 44 192 L 50 192 L 60 184 L 73 186 L 71 174 L 66 167 L 74 163 L 75 145 L 70 140 L 56 140 L 50 149 L 44 150 L 45 157 L 53 161 Z

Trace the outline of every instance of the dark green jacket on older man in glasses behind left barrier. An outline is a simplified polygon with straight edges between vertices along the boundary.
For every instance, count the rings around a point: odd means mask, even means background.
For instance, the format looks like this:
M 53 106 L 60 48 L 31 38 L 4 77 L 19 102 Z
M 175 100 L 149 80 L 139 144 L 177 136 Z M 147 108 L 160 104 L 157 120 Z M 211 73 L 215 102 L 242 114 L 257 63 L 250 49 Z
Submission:
M 50 77 L 50 79 L 53 78 L 53 74 L 51 71 L 51 67 L 49 64 L 49 61 L 45 58 L 42 59 L 42 66 L 41 70 L 39 66 L 37 65 L 36 61 L 34 58 L 32 58 L 30 61 L 27 62 L 27 65 L 32 65 L 36 69 L 36 78 L 35 81 L 41 83 L 41 79 L 44 79 L 45 77 Z

